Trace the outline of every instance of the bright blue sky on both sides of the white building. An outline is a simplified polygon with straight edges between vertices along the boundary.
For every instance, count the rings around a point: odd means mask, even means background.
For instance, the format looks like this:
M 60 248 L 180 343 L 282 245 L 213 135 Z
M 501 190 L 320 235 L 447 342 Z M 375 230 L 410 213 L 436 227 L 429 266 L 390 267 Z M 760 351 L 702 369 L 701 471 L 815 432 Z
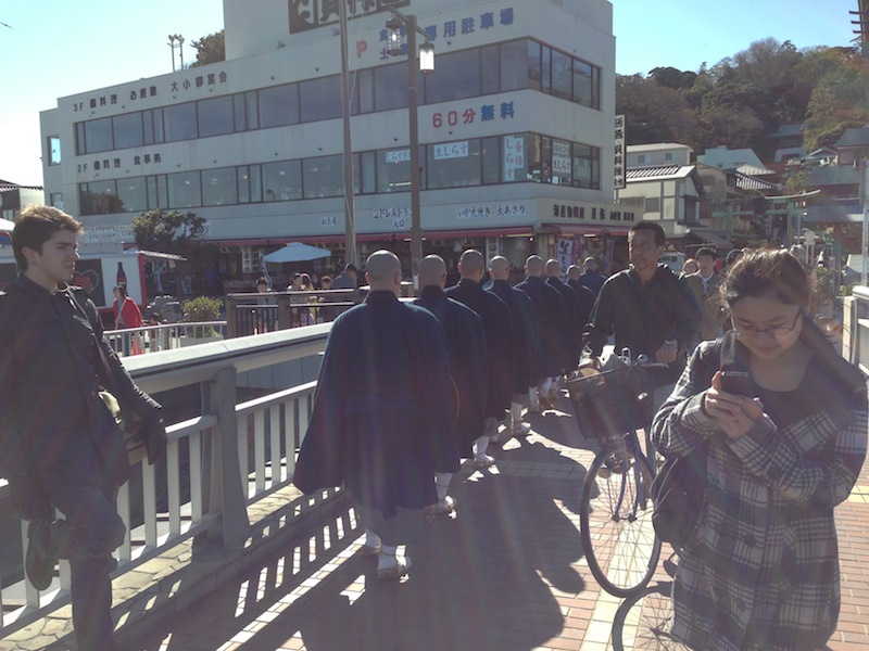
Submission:
M 612 0 L 616 72 L 697 71 L 768 37 L 797 49 L 847 46 L 857 2 Z M 40 111 L 58 98 L 171 73 L 169 34 L 185 37 L 190 63 L 190 43 L 224 26 L 223 0 L 0 0 L 0 22 L 9 25 L 0 25 L 0 179 L 23 186 L 42 184 Z

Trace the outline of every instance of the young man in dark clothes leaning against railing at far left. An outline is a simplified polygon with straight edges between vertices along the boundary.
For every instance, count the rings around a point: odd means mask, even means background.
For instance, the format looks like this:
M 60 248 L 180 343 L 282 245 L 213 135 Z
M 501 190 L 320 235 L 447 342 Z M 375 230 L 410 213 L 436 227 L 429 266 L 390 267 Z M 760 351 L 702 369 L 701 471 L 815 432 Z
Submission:
M 150 463 L 165 454 L 166 432 L 160 406 L 134 384 L 103 337 L 96 306 L 68 285 L 83 230 L 50 206 L 29 206 L 15 224 L 18 276 L 0 294 L 0 476 L 29 522 L 28 579 L 47 589 L 58 559 L 68 559 L 78 649 L 111 651 L 112 551 L 125 535 L 115 498 L 129 462 L 98 392 L 111 385 L 122 410 L 142 419 Z

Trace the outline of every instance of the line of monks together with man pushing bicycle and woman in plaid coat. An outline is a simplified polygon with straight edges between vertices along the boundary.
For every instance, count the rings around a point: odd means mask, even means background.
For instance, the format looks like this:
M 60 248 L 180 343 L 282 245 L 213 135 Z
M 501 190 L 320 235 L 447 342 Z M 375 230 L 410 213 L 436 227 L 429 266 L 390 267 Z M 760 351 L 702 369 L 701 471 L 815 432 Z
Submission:
M 741 252 L 715 270 L 701 248 L 682 277 L 659 264 L 665 233 L 638 222 L 630 267 L 607 279 L 593 259 L 537 255 L 513 286 L 503 257 L 474 250 L 419 264 L 419 297 L 399 301 L 401 265 L 366 263 L 370 293 L 332 327 L 294 477 L 305 493 L 344 485 L 360 503 L 377 576 L 404 576 L 424 513 L 457 509 L 453 474 L 484 471 L 503 422 L 529 433 L 559 381 L 607 343 L 663 362 L 652 425 L 665 456 L 708 446 L 707 497 L 680 551 L 671 635 L 692 649 L 820 649 L 839 609 L 833 507 L 866 456 L 866 385 L 815 326 L 810 284 L 786 251 Z M 725 391 L 722 348 L 752 395 Z M 677 382 L 678 381 L 678 382 Z M 666 400 L 664 399 L 666 398 Z

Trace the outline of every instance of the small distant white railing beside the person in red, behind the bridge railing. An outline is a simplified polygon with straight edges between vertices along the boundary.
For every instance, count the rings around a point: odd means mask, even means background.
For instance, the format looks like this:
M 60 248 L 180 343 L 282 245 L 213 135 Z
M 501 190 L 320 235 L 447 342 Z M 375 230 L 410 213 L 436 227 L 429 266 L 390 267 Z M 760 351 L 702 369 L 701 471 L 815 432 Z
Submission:
M 226 321 L 164 323 L 135 329 L 106 330 L 105 337 L 119 357 L 128 357 L 226 339 Z

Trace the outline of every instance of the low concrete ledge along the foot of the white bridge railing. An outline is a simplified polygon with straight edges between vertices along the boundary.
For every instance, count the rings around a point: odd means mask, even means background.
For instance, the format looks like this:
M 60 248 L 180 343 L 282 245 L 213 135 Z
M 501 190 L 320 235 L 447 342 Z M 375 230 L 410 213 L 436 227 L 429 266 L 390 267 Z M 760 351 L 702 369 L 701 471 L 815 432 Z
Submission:
M 291 486 L 276 490 L 248 508 L 251 528 L 237 545 L 224 547 L 209 537 L 186 540 L 115 578 L 112 614 L 118 644 L 134 644 L 164 618 L 278 552 L 312 515 L 329 518 L 352 503 L 345 490 L 323 495 L 305 497 Z M 72 608 L 64 605 L 0 639 L 0 651 L 13 649 L 77 649 Z

